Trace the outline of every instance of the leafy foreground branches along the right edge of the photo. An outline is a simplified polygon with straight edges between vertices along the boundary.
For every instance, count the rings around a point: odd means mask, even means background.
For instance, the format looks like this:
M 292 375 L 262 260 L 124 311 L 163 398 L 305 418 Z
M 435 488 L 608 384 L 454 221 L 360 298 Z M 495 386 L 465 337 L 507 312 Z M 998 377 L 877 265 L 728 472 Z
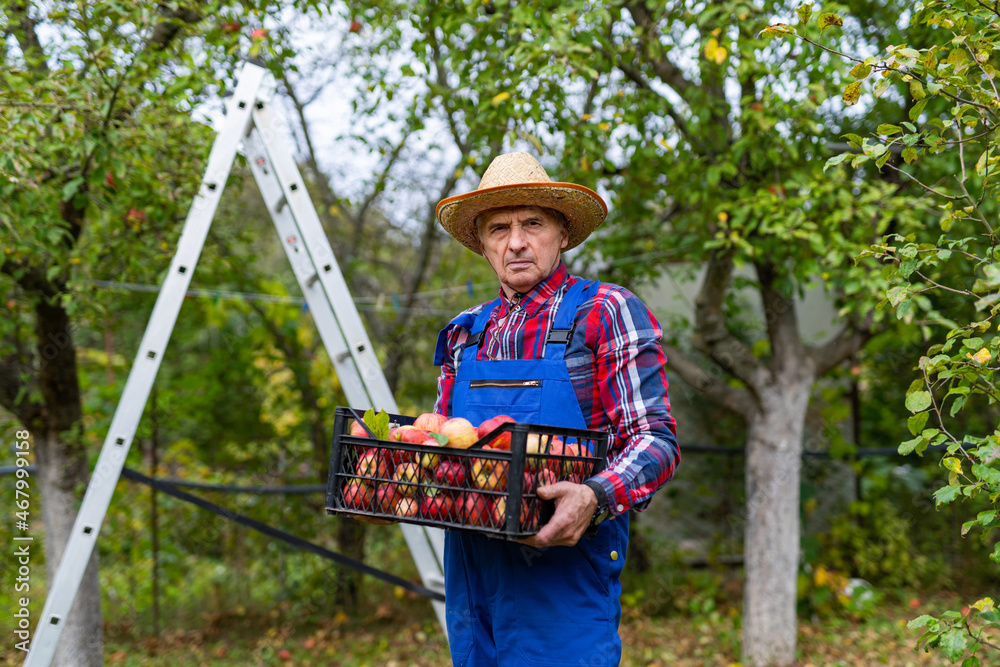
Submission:
M 905 96 L 908 120 L 885 118 L 864 136 L 850 136 L 854 151 L 828 165 L 849 161 L 852 170 L 870 173 L 874 164 L 916 184 L 942 211 L 935 228 L 887 235 L 862 254 L 881 261 L 890 281 L 880 308 L 888 305 L 898 318 L 919 315 L 936 325 L 925 329 L 931 344 L 906 395 L 914 437 L 899 452 L 922 456 L 932 445 L 946 448 L 941 465 L 948 484 L 934 499 L 938 506 L 967 503 L 976 514 L 961 534 L 978 529 L 984 541 L 1000 523 L 1000 337 L 992 332 L 1000 312 L 1000 236 L 991 222 L 1000 201 L 1000 93 L 992 56 L 1000 47 L 998 20 L 995 5 L 932 1 L 910 21 L 915 38 L 874 56 L 817 43 L 854 64 L 856 81 L 844 91 L 848 104 L 862 95 L 867 103 L 872 81 L 876 98 L 892 89 Z M 773 29 L 792 32 L 787 26 Z M 963 413 L 978 419 L 962 419 L 968 416 Z M 990 559 L 1000 563 L 1000 544 L 987 544 Z M 909 627 L 924 630 L 918 647 L 939 649 L 963 665 L 979 665 L 984 647 L 1000 650 L 985 632 L 1000 627 L 1000 612 L 989 597 L 962 611 L 922 615 Z

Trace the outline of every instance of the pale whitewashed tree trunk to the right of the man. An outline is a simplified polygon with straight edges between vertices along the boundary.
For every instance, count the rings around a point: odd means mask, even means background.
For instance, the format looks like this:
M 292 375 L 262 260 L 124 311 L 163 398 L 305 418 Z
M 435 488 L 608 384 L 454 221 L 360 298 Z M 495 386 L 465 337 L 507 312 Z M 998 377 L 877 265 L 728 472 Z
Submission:
M 812 381 L 779 379 L 748 424 L 743 662 L 754 667 L 795 659 L 799 472 Z

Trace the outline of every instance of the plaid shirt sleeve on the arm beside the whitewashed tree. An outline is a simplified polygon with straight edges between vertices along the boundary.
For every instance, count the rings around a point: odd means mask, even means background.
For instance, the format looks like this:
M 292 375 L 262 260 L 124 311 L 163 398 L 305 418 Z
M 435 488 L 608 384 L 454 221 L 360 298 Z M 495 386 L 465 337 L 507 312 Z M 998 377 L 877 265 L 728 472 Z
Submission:
M 608 467 L 591 479 L 604 489 L 617 516 L 646 509 L 681 457 L 656 318 L 631 292 L 612 289 L 601 304 L 597 329 L 596 390 L 613 437 Z

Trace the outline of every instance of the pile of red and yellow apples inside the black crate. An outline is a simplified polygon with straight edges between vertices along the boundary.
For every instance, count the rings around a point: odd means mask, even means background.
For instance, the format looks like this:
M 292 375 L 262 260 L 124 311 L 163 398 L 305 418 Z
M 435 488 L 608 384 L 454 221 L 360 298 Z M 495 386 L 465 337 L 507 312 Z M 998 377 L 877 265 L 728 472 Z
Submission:
M 359 450 L 361 454 L 354 469 L 357 477 L 344 487 L 345 506 L 402 518 L 420 517 L 465 526 L 502 528 L 507 519 L 504 492 L 507 490 L 509 456 L 471 456 L 464 450 L 507 423 L 514 423 L 514 419 L 498 415 L 474 426 L 461 417 L 449 419 L 425 413 L 417 417 L 412 426 L 390 429 L 391 441 L 436 447 L 441 453 L 381 446 Z M 369 437 L 358 422 L 351 423 L 350 435 Z M 510 445 L 511 434 L 500 433 L 476 451 L 510 451 Z M 463 453 L 456 455 L 454 450 Z M 559 480 L 579 483 L 588 467 L 581 460 L 550 458 L 550 455 L 580 456 L 579 445 L 564 444 L 558 437 L 529 433 L 526 453 L 525 494 L 534 494 L 538 487 Z M 529 502 L 527 498 L 521 503 L 522 530 L 538 527 L 537 505 L 537 501 Z

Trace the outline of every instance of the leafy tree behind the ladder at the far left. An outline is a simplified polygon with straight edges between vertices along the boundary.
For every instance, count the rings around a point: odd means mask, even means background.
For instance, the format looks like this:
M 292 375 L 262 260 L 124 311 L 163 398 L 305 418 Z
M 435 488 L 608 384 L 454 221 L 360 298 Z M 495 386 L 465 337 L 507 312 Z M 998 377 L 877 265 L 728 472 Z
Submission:
M 211 144 L 191 109 L 232 71 L 227 52 L 261 49 L 266 33 L 243 23 L 318 3 L 259 4 L 19 1 L 0 13 L 0 290 L 12 313 L 0 405 L 34 439 L 50 576 L 88 479 L 74 327 L 100 311 L 89 281 L 165 265 Z M 96 551 L 56 660 L 101 664 Z

